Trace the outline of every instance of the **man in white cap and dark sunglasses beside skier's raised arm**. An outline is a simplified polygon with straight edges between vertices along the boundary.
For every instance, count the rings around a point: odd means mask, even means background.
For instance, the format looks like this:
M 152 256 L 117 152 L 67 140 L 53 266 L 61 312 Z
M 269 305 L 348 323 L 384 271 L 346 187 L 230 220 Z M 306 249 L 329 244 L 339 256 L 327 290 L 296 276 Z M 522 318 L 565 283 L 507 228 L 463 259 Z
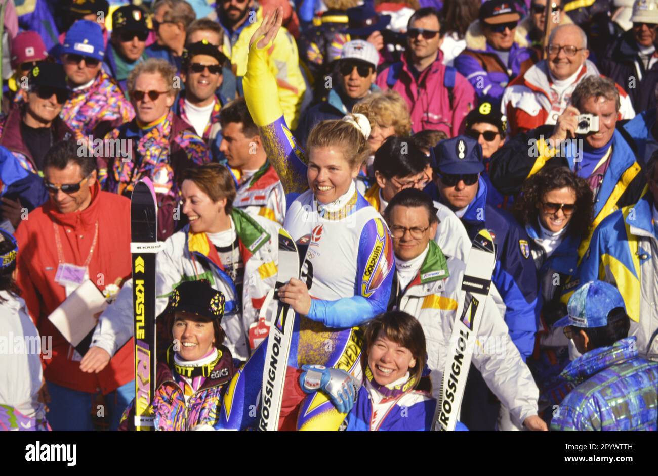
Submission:
M 337 62 L 338 73 L 328 78 L 339 78 L 338 84 L 326 84 L 329 86 L 328 94 L 322 98 L 322 102 L 307 109 L 299 119 L 295 139 L 302 147 L 306 146 L 306 139 L 318 122 L 342 119 L 345 114 L 352 112 L 354 104 L 370 93 L 379 91 L 374 85 L 378 60 L 377 50 L 367 41 L 355 39 L 345 43 Z M 322 78 L 322 81 L 326 82 L 326 79 Z

